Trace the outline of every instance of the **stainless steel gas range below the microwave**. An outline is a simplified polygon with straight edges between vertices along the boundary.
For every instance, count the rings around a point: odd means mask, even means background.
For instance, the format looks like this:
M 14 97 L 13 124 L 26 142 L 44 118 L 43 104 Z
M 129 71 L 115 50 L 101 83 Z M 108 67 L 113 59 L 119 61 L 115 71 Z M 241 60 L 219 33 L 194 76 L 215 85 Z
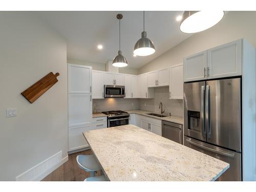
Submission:
M 102 112 L 105 115 L 108 115 L 108 127 L 120 126 L 129 124 L 130 114 L 124 111 L 108 111 Z

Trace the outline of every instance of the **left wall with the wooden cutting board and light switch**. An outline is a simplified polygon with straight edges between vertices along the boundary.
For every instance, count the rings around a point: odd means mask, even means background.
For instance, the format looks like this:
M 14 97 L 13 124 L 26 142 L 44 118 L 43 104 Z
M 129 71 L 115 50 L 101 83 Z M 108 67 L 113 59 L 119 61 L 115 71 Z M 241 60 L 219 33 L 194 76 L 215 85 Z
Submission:
M 67 46 L 31 12 L 0 12 L 0 26 L 0 180 L 10 181 L 59 151 L 67 156 Z M 58 82 L 33 104 L 20 95 L 51 71 Z

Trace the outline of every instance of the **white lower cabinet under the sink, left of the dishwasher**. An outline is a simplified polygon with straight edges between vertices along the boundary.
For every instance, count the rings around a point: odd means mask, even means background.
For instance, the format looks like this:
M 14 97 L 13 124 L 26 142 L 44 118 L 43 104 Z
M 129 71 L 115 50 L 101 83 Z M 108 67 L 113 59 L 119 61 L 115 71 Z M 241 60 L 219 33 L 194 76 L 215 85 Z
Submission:
M 136 115 L 137 126 L 162 136 L 162 121 L 142 115 Z

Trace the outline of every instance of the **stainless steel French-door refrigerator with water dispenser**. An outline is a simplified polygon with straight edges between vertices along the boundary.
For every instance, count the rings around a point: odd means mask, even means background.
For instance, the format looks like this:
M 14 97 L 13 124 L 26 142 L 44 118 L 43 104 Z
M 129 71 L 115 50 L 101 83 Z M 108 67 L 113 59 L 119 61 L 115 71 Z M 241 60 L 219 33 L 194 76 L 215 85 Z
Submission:
M 241 181 L 241 78 L 184 83 L 184 145 L 230 164 L 219 181 Z

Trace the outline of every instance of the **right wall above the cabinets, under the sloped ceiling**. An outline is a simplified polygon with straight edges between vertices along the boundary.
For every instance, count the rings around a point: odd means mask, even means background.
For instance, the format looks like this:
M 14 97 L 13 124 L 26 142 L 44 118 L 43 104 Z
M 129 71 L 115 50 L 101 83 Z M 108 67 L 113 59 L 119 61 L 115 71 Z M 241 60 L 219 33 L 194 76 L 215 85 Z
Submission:
M 163 53 L 139 69 L 139 74 L 176 65 L 183 57 L 245 37 L 256 47 L 256 11 L 229 11 L 221 22 L 188 37 L 181 44 Z

